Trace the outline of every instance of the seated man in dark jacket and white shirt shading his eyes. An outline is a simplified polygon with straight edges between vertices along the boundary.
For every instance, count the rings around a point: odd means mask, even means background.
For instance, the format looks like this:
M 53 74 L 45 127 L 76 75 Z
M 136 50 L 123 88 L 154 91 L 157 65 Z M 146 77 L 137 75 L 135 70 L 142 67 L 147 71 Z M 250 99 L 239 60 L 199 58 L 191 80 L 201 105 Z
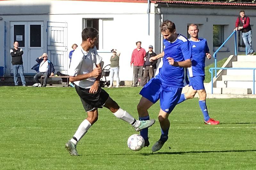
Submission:
M 54 66 L 50 60 L 47 59 L 48 55 L 44 53 L 42 56 L 36 58 L 37 64 L 35 64 L 31 69 L 36 70 L 37 73 L 34 76 L 34 79 L 36 83 L 39 83 L 38 78 L 41 78 L 41 76 L 44 76 L 44 85 L 42 87 L 45 87 L 47 85 L 48 77 L 51 75 L 54 75 Z

